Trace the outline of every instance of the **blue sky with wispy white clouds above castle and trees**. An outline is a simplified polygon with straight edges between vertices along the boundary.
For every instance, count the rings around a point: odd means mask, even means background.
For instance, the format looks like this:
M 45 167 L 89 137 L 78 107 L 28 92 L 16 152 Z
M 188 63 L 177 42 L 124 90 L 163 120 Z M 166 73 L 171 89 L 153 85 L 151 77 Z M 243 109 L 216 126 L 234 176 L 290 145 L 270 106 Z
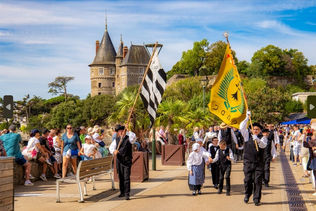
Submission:
M 298 49 L 316 64 L 316 1 L 0 1 L 0 96 L 50 99 L 48 84 L 73 76 L 67 92 L 90 93 L 95 41 L 107 27 L 116 50 L 121 34 L 128 48 L 163 44 L 168 71 L 193 42 L 229 41 L 239 60 L 251 61 L 267 45 Z

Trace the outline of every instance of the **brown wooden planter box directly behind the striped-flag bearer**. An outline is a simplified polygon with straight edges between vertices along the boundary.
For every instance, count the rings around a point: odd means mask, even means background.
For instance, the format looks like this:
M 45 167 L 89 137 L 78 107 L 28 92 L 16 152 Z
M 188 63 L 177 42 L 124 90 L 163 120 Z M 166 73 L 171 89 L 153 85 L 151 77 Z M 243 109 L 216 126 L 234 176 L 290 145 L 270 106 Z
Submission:
M 142 182 L 149 178 L 149 153 L 133 152 L 130 169 L 130 181 Z M 119 182 L 119 175 L 116 169 L 116 156 L 114 156 L 114 181 Z

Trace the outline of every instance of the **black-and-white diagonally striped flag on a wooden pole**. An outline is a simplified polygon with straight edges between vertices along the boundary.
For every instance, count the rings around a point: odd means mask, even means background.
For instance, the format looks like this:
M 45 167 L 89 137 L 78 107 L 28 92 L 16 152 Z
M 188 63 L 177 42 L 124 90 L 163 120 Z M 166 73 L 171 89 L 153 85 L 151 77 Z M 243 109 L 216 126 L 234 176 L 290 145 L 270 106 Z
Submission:
M 140 93 L 140 97 L 149 114 L 150 128 L 155 123 L 157 107 L 166 89 L 166 81 L 167 74 L 160 64 L 158 49 L 156 49 Z

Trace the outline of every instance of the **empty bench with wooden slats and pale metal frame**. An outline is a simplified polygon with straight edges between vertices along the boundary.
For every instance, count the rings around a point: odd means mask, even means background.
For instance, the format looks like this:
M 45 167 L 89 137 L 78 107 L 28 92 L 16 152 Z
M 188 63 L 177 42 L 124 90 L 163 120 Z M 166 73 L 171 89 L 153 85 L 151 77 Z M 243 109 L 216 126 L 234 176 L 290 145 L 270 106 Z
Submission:
M 57 200 L 56 202 L 61 202 L 59 197 L 59 183 L 60 182 L 70 182 L 70 183 L 77 183 L 78 189 L 79 189 L 79 201 L 78 202 L 84 202 L 83 195 L 82 195 L 82 188 L 80 182 L 84 183 L 84 196 L 87 196 L 87 188 L 86 188 L 86 180 L 89 180 L 92 178 L 93 182 L 93 188 L 95 189 L 95 178 L 110 174 L 111 180 L 112 180 L 112 189 L 115 190 L 114 186 L 114 178 L 112 174 L 112 161 L 114 156 L 108 156 L 104 158 L 96 158 L 96 159 L 90 159 L 90 160 L 83 160 L 79 162 L 79 165 L 77 167 L 77 173 L 73 176 L 68 176 L 63 179 L 57 179 L 56 180 L 56 189 L 57 189 Z M 90 177 L 90 178 L 89 178 Z

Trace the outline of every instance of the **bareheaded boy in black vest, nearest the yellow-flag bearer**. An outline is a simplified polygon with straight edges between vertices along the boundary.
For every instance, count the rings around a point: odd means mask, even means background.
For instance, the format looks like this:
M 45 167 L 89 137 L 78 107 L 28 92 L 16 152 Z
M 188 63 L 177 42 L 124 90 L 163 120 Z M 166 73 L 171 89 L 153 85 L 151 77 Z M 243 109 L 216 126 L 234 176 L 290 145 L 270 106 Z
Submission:
M 223 184 L 224 184 L 224 174 L 226 173 L 226 196 L 230 195 L 230 171 L 232 169 L 232 161 L 234 160 L 233 152 L 231 149 L 227 148 L 226 142 L 221 140 L 219 142 L 219 150 L 217 150 L 215 158 L 212 163 L 219 160 L 219 190 L 217 194 L 221 194 L 223 192 Z

